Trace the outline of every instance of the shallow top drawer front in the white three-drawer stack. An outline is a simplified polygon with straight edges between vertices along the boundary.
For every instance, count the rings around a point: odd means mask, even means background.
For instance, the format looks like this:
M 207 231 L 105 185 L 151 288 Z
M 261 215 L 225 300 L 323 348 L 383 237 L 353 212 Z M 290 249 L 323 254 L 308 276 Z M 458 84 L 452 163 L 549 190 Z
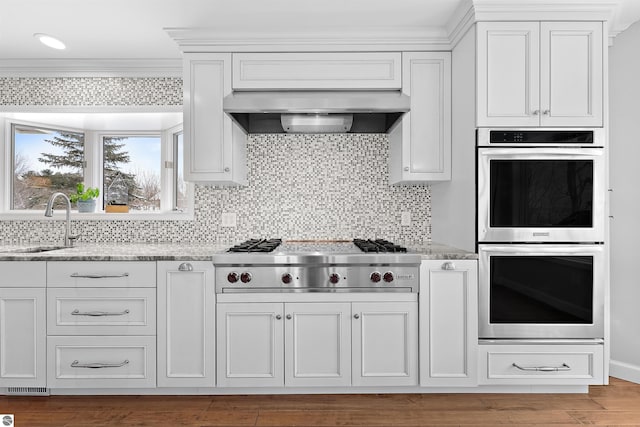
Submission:
M 47 263 L 47 286 L 54 288 L 153 288 L 152 261 L 60 261 Z

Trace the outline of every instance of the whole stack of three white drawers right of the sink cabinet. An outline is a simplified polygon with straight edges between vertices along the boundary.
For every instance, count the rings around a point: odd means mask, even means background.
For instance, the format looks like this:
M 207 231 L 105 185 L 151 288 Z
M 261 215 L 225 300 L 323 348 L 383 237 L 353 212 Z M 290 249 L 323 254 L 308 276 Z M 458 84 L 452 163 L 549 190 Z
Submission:
M 47 386 L 156 386 L 156 263 L 47 263 Z

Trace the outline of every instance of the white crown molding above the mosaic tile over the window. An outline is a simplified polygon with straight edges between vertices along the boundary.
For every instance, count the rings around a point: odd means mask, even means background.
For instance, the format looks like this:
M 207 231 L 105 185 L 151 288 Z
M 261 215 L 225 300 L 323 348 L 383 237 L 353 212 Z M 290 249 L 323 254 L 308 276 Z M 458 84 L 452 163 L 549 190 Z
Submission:
M 0 59 L 0 77 L 182 77 L 182 59 Z

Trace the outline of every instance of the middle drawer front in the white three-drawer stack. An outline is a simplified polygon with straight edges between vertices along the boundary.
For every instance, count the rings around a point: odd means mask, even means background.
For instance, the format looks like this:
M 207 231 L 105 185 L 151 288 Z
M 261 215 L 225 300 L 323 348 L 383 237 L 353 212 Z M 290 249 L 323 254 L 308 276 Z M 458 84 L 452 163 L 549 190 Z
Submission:
M 155 335 L 153 288 L 51 288 L 49 335 Z

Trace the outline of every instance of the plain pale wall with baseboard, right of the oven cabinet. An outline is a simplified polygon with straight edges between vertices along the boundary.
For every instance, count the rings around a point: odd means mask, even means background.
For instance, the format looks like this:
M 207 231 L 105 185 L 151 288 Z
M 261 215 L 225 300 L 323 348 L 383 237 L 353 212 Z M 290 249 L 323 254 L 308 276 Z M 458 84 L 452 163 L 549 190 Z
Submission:
M 640 23 L 609 49 L 611 375 L 640 383 Z

